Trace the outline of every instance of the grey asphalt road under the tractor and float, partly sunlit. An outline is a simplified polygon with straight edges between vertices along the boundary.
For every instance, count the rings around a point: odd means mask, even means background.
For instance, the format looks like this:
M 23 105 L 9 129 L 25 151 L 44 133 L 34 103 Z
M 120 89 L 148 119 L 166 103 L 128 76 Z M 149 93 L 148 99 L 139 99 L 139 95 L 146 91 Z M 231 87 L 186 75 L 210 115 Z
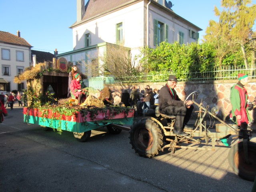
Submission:
M 88 142 L 72 132 L 42 131 L 23 123 L 14 104 L 0 124 L 1 192 L 244 192 L 253 182 L 236 176 L 228 165 L 230 148 L 215 151 L 168 150 L 143 158 L 118 135 L 92 130 Z

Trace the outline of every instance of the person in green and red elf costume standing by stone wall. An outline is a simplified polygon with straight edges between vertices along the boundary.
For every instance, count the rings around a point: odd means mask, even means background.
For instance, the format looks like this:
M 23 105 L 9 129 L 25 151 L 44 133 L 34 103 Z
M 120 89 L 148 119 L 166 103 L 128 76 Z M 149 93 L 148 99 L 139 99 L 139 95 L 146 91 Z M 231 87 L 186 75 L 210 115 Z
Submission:
M 230 118 L 238 126 L 241 125 L 241 122 L 248 124 L 251 121 L 248 110 L 253 109 L 253 104 L 247 104 L 248 93 L 244 87 L 248 82 L 247 75 L 238 74 L 238 83 L 230 89 L 230 103 L 232 105 Z

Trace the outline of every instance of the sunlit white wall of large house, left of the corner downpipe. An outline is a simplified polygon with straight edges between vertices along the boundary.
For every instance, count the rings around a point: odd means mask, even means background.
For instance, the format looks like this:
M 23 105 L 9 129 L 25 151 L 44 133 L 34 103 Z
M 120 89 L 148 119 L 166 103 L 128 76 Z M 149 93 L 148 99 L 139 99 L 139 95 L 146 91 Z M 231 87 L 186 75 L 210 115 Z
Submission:
M 91 34 L 91 45 L 102 42 L 116 43 L 116 24 L 121 22 L 124 46 L 142 47 L 144 45 L 144 2 L 138 2 L 73 28 L 75 50 L 84 48 L 84 34 L 88 33 Z

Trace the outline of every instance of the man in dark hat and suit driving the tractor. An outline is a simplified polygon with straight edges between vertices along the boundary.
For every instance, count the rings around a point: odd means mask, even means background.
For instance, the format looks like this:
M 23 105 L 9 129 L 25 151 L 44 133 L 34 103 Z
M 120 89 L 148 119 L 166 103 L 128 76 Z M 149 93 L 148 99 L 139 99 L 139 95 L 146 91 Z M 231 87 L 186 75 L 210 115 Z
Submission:
M 176 116 L 173 133 L 179 136 L 188 136 L 189 134 L 184 133 L 183 129 L 193 130 L 192 127 L 186 125 L 194 109 L 193 102 L 187 100 L 184 103 L 176 94 L 174 90 L 178 82 L 176 76 L 170 75 L 166 81 L 166 85 L 160 89 L 158 96 L 159 112 L 168 116 Z

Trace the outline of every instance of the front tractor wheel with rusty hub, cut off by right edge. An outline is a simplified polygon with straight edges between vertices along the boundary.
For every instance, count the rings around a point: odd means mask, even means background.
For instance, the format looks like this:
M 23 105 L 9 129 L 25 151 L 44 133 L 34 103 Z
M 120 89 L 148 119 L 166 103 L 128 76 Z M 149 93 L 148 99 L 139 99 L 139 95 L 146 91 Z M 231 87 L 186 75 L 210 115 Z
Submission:
M 230 148 L 228 163 L 236 175 L 245 180 L 254 181 L 256 176 L 256 143 L 250 141 L 247 143 L 249 164 L 245 162 L 243 142 Z

